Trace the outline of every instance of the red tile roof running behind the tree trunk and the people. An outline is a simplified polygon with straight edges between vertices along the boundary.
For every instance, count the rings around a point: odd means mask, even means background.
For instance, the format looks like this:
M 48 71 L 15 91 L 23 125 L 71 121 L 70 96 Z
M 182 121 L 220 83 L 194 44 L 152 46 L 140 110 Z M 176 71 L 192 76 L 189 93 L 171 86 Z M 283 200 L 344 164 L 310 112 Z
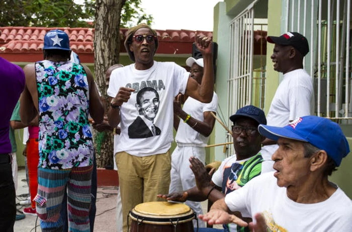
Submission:
M 0 55 L 7 55 L 10 61 L 34 62 L 42 58 L 43 39 L 45 34 L 56 28 L 44 27 L 0 27 Z M 94 29 L 92 28 L 57 28 L 67 33 L 70 38 L 71 49 L 78 53 L 79 57 L 87 57 L 82 62 L 94 62 Z M 120 29 L 125 40 L 127 29 Z M 190 30 L 156 30 L 159 40 L 157 54 L 191 54 L 192 43 L 196 32 L 200 35 L 211 37 L 212 32 Z M 254 32 L 254 47 L 258 49 L 265 46 L 266 51 L 267 32 Z M 261 44 L 261 46 L 260 46 Z M 122 44 L 121 44 L 122 45 Z M 258 46 L 259 45 L 259 46 Z M 254 48 L 254 54 L 257 49 Z M 259 50 L 260 51 L 260 50 Z M 120 52 L 126 52 L 125 47 L 120 46 Z M 22 55 L 19 56 L 21 53 Z M 259 53 L 260 54 L 260 53 Z M 16 60 L 14 60 L 16 57 Z M 90 57 L 90 58 L 88 58 Z

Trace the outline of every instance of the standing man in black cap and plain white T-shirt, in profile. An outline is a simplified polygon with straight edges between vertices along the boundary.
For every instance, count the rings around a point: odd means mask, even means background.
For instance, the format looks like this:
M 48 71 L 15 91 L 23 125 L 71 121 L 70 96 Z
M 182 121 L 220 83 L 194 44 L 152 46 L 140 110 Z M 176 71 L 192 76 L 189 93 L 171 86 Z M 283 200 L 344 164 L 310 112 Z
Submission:
M 284 74 L 267 120 L 269 126 L 283 127 L 298 117 L 310 115 L 312 78 L 303 69 L 303 58 L 309 52 L 309 45 L 307 39 L 297 32 L 287 32 L 280 37 L 268 36 L 267 41 L 275 44 L 271 56 L 274 70 Z M 270 159 L 278 146 L 270 139 L 266 139 L 263 145 L 262 156 L 265 160 Z

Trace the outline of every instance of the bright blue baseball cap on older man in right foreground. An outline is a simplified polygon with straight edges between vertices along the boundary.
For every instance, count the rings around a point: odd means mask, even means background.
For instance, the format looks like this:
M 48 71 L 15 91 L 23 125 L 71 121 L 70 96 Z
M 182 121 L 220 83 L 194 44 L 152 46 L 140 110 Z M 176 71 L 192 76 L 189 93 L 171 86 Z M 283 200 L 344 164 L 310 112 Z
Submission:
M 340 126 L 326 118 L 305 116 L 285 127 L 259 125 L 258 131 L 262 136 L 275 141 L 287 138 L 308 142 L 324 150 L 335 161 L 337 167 L 340 166 L 342 158 L 349 153 L 349 145 Z

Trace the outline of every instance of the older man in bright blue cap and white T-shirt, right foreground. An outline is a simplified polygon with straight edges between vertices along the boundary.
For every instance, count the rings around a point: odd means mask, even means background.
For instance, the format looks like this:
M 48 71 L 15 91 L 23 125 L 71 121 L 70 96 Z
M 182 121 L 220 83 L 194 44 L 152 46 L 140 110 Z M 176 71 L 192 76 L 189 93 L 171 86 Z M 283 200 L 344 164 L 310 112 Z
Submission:
M 352 231 L 352 201 L 328 176 L 349 153 L 338 124 L 306 116 L 288 126 L 259 125 L 259 133 L 278 141 L 273 154 L 276 172 L 262 174 L 225 199 L 206 215 L 210 224 L 233 222 L 246 226 L 230 211 L 249 213 L 258 231 Z

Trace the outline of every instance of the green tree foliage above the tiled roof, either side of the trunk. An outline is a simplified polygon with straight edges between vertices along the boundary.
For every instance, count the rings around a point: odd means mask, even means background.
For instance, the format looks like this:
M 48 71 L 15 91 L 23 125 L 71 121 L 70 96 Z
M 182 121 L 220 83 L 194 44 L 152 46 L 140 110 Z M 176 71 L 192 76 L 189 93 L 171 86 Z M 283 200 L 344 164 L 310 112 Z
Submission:
M 121 27 L 151 24 L 153 18 L 140 8 L 142 0 L 127 0 Z M 94 28 L 95 0 L 0 0 L 0 27 L 91 27 Z M 93 23 L 87 23 L 87 21 Z

